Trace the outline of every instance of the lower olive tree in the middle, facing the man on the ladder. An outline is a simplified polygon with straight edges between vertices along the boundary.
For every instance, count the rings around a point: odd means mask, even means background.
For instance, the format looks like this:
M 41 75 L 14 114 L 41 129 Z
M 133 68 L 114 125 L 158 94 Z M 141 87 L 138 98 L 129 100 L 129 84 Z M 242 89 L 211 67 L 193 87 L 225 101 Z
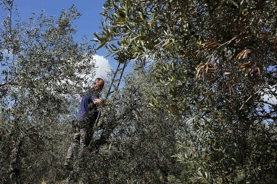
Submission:
M 149 110 L 153 87 L 149 71 L 126 74 L 124 87 L 109 97 L 102 108 L 101 126 L 96 126 L 91 145 L 74 161 L 69 182 L 178 183 L 182 167 L 172 157 L 181 134 L 166 108 Z

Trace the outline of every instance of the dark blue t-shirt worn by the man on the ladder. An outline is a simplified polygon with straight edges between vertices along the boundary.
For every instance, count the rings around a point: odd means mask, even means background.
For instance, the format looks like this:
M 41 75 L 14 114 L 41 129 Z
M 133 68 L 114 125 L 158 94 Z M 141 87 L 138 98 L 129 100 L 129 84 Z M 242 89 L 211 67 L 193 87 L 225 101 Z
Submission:
M 95 91 L 86 91 L 82 97 L 79 111 L 76 113 L 75 117 L 83 121 L 93 121 L 93 112 L 97 110 L 96 106 L 93 104 L 94 99 L 99 99 L 99 96 L 96 95 Z

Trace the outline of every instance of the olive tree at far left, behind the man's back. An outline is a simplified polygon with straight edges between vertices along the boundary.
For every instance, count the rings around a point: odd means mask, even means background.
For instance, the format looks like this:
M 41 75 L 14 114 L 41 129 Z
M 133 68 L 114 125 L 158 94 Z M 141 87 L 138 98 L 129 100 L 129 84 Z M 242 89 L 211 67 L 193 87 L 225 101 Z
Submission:
M 0 5 L 1 183 L 56 181 L 64 176 L 74 97 L 93 77 L 93 49 L 73 39 L 81 15 L 74 6 L 59 18 L 42 12 L 22 22 L 12 0 Z

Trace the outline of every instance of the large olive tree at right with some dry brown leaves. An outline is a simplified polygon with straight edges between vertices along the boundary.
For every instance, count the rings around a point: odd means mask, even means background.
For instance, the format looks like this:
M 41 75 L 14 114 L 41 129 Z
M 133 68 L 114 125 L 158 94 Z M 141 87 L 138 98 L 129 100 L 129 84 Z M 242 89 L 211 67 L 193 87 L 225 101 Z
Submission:
M 94 40 L 155 68 L 149 107 L 187 133 L 177 156 L 188 183 L 276 180 L 276 11 L 271 0 L 104 3 Z

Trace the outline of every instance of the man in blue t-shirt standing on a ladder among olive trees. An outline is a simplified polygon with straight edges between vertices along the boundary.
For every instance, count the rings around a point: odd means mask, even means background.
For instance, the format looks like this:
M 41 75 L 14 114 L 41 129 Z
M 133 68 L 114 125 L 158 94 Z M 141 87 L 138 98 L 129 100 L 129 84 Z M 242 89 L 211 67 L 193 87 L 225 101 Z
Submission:
M 74 158 L 74 152 L 80 147 L 88 147 L 93 136 L 93 125 L 99 116 L 97 106 L 101 103 L 98 93 L 104 87 L 104 80 L 96 78 L 92 89 L 86 91 L 82 97 L 79 111 L 74 120 L 74 141 L 67 151 L 64 166 L 70 168 L 70 162 Z

